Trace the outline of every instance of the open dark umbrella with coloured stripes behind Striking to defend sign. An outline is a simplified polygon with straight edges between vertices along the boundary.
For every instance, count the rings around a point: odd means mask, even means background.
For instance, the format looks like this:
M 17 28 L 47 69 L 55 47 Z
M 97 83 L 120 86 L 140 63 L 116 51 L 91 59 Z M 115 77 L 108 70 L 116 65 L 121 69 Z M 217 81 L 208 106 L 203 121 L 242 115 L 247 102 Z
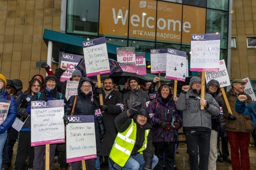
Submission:
M 109 75 L 113 74 L 113 73 L 122 73 L 122 69 L 119 66 L 119 64 L 117 63 L 116 60 L 113 59 L 108 59 L 109 62 L 109 69 L 110 69 L 110 73 L 108 74 L 101 74 L 100 75 L 100 79 L 104 80 L 106 78 L 109 77 Z M 83 77 L 86 77 L 86 69 L 85 69 L 85 64 L 84 64 L 84 58 L 81 58 L 81 60 L 79 61 L 79 63 L 76 66 L 76 69 L 80 70 L 82 72 Z M 91 79 L 97 79 L 97 76 L 90 76 Z

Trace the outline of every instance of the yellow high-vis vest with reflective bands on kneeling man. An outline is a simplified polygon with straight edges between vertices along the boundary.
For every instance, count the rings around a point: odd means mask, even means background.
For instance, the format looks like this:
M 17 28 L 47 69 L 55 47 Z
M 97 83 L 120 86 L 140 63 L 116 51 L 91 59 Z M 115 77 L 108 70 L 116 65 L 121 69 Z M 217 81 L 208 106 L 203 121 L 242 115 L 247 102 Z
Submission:
M 119 166 L 124 167 L 129 159 L 132 149 L 134 148 L 136 141 L 137 126 L 133 121 L 130 126 L 122 133 L 118 133 L 115 138 L 115 142 L 110 151 L 109 157 Z M 138 150 L 140 154 L 147 148 L 149 129 L 145 130 L 145 140 L 142 147 Z

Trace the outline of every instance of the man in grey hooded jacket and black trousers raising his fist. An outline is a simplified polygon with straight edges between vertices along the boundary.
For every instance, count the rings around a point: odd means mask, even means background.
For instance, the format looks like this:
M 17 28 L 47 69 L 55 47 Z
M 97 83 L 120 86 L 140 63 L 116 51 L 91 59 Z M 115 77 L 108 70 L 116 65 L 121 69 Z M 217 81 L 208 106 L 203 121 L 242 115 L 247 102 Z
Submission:
M 200 110 L 201 105 L 204 110 Z M 201 78 L 194 76 L 189 86 L 182 86 L 176 108 L 183 111 L 183 131 L 190 170 L 206 170 L 210 152 L 211 115 L 219 115 L 219 104 L 208 93 L 204 93 L 204 100 L 201 99 Z

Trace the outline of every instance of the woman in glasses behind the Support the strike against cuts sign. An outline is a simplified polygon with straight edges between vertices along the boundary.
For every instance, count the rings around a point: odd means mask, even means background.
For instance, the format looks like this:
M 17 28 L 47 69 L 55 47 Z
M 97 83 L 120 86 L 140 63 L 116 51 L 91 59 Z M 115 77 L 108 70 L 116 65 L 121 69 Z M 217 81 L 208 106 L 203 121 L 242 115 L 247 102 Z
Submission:
M 95 118 L 95 137 L 96 148 L 99 152 L 100 141 L 104 139 L 105 128 L 102 120 L 102 114 L 98 102 L 96 101 L 93 91 L 93 82 L 88 77 L 82 77 L 78 84 L 78 95 L 76 95 L 76 103 L 74 107 L 74 115 L 94 115 Z M 65 115 L 70 115 L 75 96 L 71 96 L 65 105 Z M 80 170 L 81 161 L 71 163 L 72 170 Z M 95 169 L 95 159 L 87 159 L 85 161 L 86 169 Z

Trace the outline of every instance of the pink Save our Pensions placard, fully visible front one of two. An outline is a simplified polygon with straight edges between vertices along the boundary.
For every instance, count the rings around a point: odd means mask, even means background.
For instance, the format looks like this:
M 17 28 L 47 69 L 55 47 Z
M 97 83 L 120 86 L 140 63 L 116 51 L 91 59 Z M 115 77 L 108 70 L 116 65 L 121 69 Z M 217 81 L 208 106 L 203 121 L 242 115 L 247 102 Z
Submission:
M 136 59 L 134 47 L 117 48 L 117 62 L 122 71 L 135 73 L 136 72 Z

